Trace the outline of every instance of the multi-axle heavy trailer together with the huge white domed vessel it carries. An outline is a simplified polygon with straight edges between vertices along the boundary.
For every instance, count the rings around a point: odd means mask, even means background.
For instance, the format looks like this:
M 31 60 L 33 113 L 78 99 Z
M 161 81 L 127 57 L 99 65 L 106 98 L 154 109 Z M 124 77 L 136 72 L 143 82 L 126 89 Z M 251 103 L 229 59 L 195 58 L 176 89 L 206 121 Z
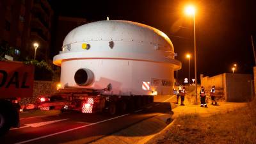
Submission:
M 42 97 L 40 109 L 76 109 L 83 113 L 137 109 L 154 95 L 169 95 L 174 59 L 171 40 L 162 31 L 125 20 L 79 26 L 65 37 L 53 63 L 61 67 L 59 92 Z

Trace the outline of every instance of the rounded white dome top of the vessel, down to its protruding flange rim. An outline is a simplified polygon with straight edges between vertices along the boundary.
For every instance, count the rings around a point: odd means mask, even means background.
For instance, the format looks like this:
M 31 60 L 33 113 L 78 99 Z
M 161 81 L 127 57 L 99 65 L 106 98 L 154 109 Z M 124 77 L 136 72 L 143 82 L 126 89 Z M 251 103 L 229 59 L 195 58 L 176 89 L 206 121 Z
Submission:
M 102 20 L 79 26 L 65 37 L 54 64 L 62 60 L 113 58 L 173 63 L 173 44 L 162 31 L 138 22 Z

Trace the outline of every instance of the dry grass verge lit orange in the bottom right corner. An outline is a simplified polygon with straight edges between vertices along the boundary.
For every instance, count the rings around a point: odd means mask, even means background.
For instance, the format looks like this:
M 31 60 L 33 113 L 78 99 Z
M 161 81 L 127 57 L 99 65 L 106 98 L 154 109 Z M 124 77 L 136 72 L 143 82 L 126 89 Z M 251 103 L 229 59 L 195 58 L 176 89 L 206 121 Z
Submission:
M 180 115 L 163 138 L 153 143 L 256 143 L 256 99 L 226 113 Z

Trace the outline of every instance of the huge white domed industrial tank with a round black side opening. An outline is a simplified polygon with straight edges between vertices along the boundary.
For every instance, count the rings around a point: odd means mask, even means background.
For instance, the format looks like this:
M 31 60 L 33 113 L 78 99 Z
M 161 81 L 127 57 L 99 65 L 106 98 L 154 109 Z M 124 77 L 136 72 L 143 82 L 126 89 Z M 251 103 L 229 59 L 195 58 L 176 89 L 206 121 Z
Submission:
M 61 86 L 103 89 L 111 95 L 167 95 L 173 88 L 171 40 L 162 31 L 125 20 L 79 26 L 65 37 L 53 63 L 61 66 Z

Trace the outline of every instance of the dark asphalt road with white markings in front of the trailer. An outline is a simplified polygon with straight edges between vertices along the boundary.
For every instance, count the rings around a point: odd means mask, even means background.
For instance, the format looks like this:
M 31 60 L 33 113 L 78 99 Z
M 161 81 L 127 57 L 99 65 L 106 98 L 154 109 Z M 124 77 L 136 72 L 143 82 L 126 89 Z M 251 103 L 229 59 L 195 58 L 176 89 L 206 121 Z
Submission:
M 0 143 L 90 143 L 160 113 L 170 113 L 172 99 L 175 99 L 174 95 L 158 95 L 148 106 L 115 116 L 75 111 L 58 115 L 30 115 L 20 118 L 20 128 L 11 129 L 0 137 Z

